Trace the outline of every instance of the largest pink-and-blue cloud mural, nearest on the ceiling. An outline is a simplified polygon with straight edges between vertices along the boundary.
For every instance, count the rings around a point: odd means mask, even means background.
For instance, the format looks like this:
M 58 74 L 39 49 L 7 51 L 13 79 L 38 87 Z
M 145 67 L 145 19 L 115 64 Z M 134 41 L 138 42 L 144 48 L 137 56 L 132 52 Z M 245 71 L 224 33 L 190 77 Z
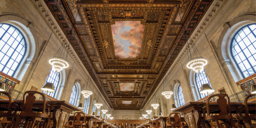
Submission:
M 139 56 L 144 32 L 144 25 L 140 23 L 141 21 L 115 21 L 115 25 L 111 25 L 116 57 Z

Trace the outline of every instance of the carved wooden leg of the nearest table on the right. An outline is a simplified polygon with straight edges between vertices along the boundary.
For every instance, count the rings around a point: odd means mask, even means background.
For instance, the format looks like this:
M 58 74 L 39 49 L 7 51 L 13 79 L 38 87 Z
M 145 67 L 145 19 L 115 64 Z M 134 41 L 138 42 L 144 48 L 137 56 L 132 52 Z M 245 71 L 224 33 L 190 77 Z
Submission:
M 185 121 L 188 124 L 189 128 L 201 127 L 202 114 L 199 109 L 192 110 L 188 113 L 185 113 L 184 118 L 185 118 Z

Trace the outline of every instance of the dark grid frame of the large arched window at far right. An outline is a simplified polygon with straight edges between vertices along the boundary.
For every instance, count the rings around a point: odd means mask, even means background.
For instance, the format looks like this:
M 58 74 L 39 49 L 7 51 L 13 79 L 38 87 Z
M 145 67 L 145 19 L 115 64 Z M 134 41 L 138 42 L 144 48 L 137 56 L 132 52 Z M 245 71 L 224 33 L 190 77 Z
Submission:
M 255 73 L 256 73 L 255 69 L 253 68 L 251 62 L 249 61 L 249 59 L 246 57 L 246 55 L 245 55 L 245 53 L 244 53 L 244 50 L 247 49 L 249 46 L 246 46 L 245 49 L 242 50 L 241 46 L 238 44 L 237 40 L 235 39 L 236 35 L 240 36 L 238 33 L 239 33 L 241 30 L 243 31 L 243 29 L 246 28 L 246 27 L 250 29 L 251 33 L 252 33 L 253 36 L 256 38 L 256 35 L 253 33 L 253 30 L 249 27 L 249 26 L 251 26 L 251 25 L 256 25 L 256 23 L 250 23 L 250 24 L 245 25 L 244 27 L 238 29 L 238 30 L 236 31 L 236 33 L 234 34 L 233 38 L 231 39 L 231 45 L 230 45 L 231 56 L 232 56 L 232 58 L 235 60 L 236 66 L 238 67 L 238 69 L 239 69 L 240 73 L 242 74 L 243 78 L 246 78 L 246 77 L 244 76 L 243 71 L 242 71 L 242 69 L 240 68 L 240 66 L 238 65 L 238 62 L 237 62 L 237 60 L 235 59 L 235 56 L 234 56 L 234 54 L 233 54 L 233 44 L 234 44 L 235 42 L 237 43 L 237 46 L 239 46 L 239 48 L 241 49 L 241 52 L 243 53 L 244 57 L 246 58 L 245 60 L 247 60 L 247 61 L 249 62 L 249 65 L 251 66 L 251 68 L 252 68 L 252 70 L 254 71 L 254 74 L 255 74 Z M 254 30 L 256 30 L 256 28 L 255 28 Z M 245 37 L 247 37 L 247 38 L 249 39 L 249 41 L 250 41 L 250 38 L 248 37 L 248 35 L 245 35 Z M 244 37 L 244 38 L 245 38 L 245 37 Z M 243 38 L 243 39 L 244 39 L 244 38 Z M 241 41 L 243 41 L 243 39 L 241 38 Z M 235 42 L 234 42 L 234 41 L 235 41 Z M 243 41 L 243 42 L 244 42 L 244 41 Z M 256 41 L 254 41 L 253 43 L 255 43 L 255 42 L 256 42 Z M 250 43 L 251 43 L 252 46 L 254 46 L 251 41 L 250 41 Z M 256 49 L 255 46 L 254 46 L 254 49 Z M 234 50 L 235 50 L 235 48 L 234 48 Z M 249 50 L 249 49 L 248 49 L 248 50 Z M 236 50 L 235 50 L 235 51 L 236 51 Z M 241 53 L 241 52 L 239 52 L 239 53 Z M 249 50 L 249 52 L 251 53 L 250 50 Z M 256 54 L 256 53 L 254 53 L 254 54 Z M 254 54 L 251 53 L 251 57 L 253 57 Z M 238 54 L 237 54 L 237 55 L 238 55 Z M 239 57 L 239 55 L 238 55 L 238 57 Z M 254 58 L 254 57 L 253 57 L 253 58 Z M 239 57 L 239 59 L 241 59 L 241 58 Z M 254 60 L 256 61 L 255 58 L 254 58 Z M 241 59 L 241 61 L 242 61 L 242 59 Z M 243 63 L 243 61 L 240 62 L 240 63 Z M 244 63 L 243 63 L 243 65 L 244 65 Z M 245 65 L 244 65 L 244 67 L 245 67 Z M 254 67 L 255 67 L 255 66 L 254 66 Z M 245 69 L 246 69 L 246 68 L 245 68 Z M 248 69 L 246 69 L 245 71 L 247 71 L 247 73 L 249 73 Z M 250 75 L 250 76 L 251 76 L 251 75 Z M 249 76 L 247 76 L 247 77 L 249 77 Z

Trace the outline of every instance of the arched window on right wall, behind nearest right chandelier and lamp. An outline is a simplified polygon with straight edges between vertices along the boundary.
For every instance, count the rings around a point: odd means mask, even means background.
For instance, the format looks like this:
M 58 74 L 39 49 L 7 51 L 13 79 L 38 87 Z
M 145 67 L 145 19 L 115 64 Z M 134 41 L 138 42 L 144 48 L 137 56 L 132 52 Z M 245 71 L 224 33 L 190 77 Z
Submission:
M 200 92 L 202 84 L 209 84 L 211 86 L 208 77 L 205 75 L 205 70 L 201 73 L 196 73 L 196 85 L 198 92 Z M 201 99 L 206 96 L 207 94 L 200 94 Z

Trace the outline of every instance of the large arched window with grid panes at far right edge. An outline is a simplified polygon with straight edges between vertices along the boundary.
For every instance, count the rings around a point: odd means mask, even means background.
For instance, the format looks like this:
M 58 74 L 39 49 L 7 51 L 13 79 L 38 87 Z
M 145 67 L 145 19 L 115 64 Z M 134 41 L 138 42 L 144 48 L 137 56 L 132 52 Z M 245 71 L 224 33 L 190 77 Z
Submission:
M 244 26 L 237 31 L 231 42 L 231 54 L 244 78 L 256 73 L 255 28 L 255 23 Z

